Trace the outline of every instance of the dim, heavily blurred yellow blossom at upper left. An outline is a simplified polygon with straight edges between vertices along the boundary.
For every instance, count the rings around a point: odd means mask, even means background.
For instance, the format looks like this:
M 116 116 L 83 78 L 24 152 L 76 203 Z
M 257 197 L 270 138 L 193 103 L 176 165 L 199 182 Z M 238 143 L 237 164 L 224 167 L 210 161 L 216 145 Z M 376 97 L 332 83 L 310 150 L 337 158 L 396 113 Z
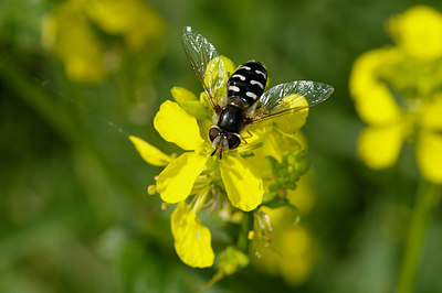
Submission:
M 130 51 L 139 51 L 164 34 L 164 21 L 140 0 L 69 0 L 42 23 L 42 43 L 64 63 L 69 78 L 98 83 L 123 59 L 119 44 L 105 43 L 95 26 L 122 35 Z

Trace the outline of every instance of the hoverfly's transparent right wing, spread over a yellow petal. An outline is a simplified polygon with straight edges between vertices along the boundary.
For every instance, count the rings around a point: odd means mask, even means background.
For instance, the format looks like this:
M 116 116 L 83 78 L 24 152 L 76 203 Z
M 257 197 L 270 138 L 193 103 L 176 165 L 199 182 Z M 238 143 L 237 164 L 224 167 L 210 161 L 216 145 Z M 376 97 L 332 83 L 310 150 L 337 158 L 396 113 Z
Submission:
M 333 91 L 329 85 L 308 80 L 274 86 L 261 96 L 249 123 L 311 108 L 328 99 Z

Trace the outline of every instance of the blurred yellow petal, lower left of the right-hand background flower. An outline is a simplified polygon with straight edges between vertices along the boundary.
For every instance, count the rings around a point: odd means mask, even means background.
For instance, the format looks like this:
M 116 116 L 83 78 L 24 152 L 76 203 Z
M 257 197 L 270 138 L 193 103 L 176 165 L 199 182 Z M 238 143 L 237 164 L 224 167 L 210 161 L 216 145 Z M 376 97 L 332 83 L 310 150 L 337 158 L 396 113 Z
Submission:
M 371 169 L 385 169 L 394 164 L 403 140 L 401 124 L 383 128 L 368 127 L 359 137 L 358 154 Z

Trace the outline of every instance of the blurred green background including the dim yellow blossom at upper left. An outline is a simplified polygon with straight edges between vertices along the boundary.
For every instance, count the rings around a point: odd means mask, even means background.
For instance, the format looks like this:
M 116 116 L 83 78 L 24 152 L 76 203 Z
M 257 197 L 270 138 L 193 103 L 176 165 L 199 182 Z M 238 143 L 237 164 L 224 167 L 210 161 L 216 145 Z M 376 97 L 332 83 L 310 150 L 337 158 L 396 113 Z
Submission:
M 170 209 L 146 194 L 161 169 L 127 139 L 178 151 L 151 121 L 172 86 L 201 90 L 180 44 L 186 25 L 235 64 L 262 61 L 273 84 L 335 87 L 303 129 L 313 270 L 293 284 L 249 265 L 208 291 L 393 292 L 420 175 L 411 146 L 386 171 L 357 158 L 364 123 L 348 77 L 358 55 L 391 44 L 388 18 L 415 3 L 2 0 L 0 292 L 192 292 L 215 272 L 176 256 Z M 415 292 L 442 292 L 441 247 L 439 205 Z

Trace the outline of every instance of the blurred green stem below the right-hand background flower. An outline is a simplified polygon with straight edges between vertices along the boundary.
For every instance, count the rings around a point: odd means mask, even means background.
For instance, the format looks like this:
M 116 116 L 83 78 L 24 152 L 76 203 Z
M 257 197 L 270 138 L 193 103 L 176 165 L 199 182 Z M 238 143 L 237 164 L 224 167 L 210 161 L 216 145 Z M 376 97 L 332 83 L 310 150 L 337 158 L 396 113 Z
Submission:
M 431 208 L 435 203 L 436 195 L 436 186 L 422 180 L 419 185 L 404 247 L 398 293 L 411 293 L 414 291 L 422 245 L 431 216 Z

